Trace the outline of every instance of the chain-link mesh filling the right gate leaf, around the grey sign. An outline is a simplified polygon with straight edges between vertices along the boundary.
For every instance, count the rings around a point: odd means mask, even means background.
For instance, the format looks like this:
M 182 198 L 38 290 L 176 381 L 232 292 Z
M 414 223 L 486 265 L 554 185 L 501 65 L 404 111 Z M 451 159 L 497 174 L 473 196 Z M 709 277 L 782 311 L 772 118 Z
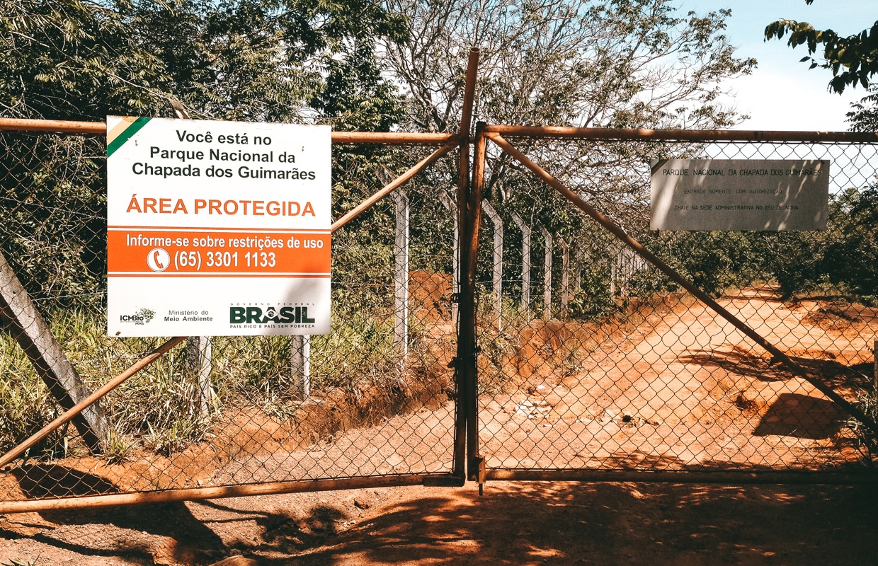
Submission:
M 506 140 L 811 381 L 493 146 L 496 219 L 479 240 L 487 478 L 874 469 L 874 431 L 817 386 L 874 421 L 878 146 Z M 830 160 L 828 228 L 652 231 L 651 163 L 670 158 Z

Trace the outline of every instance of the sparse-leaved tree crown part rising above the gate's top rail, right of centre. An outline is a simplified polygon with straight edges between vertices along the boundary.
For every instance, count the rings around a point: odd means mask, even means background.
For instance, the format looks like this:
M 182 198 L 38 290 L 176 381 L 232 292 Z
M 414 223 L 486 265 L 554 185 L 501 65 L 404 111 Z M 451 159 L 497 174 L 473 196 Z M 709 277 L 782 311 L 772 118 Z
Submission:
M 734 123 L 718 82 L 747 73 L 730 11 L 677 18 L 667 0 L 392 0 L 411 36 L 388 46 L 413 125 L 453 131 L 470 46 L 482 48 L 481 119 L 504 124 L 705 127 Z

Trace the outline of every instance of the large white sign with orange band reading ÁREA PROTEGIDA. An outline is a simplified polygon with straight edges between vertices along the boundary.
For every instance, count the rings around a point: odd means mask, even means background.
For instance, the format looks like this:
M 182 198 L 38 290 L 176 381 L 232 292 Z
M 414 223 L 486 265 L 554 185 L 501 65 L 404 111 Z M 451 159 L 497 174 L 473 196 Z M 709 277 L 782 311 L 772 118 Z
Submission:
M 327 126 L 107 118 L 107 333 L 329 332 Z

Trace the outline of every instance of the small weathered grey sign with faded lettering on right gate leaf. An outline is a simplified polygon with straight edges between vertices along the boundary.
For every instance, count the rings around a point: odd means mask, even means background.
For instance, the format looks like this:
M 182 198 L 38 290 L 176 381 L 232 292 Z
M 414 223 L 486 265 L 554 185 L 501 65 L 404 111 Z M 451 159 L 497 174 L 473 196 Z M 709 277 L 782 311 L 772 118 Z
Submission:
M 652 163 L 652 230 L 825 230 L 829 161 Z

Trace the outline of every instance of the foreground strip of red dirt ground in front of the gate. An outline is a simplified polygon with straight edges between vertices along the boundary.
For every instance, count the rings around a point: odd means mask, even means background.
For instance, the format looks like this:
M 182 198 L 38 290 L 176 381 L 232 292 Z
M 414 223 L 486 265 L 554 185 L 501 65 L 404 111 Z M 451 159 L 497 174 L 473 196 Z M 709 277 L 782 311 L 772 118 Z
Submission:
M 11 515 L 0 562 L 875 564 L 876 509 L 874 485 L 385 488 Z

